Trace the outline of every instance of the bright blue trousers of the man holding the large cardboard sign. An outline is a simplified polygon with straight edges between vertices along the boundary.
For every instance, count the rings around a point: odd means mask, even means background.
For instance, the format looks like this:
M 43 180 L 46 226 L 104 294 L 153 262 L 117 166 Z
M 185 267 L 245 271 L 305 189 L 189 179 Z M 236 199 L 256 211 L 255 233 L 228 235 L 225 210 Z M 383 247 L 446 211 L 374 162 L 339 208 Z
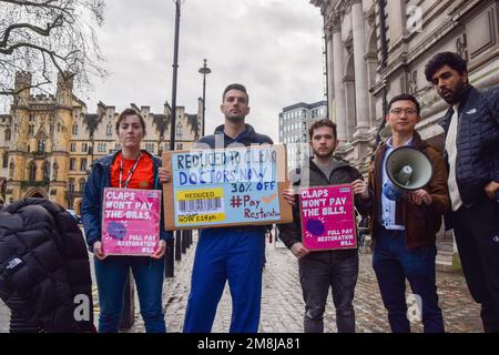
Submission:
M 185 310 L 184 333 L 210 333 L 228 280 L 231 333 L 256 333 L 262 302 L 265 231 L 210 229 L 201 231 Z

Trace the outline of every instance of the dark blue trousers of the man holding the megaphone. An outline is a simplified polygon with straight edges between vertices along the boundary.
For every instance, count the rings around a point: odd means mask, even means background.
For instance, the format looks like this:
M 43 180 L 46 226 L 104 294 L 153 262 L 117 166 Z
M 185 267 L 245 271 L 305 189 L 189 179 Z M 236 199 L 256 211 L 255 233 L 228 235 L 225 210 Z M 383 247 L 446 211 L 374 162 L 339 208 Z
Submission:
M 444 318 L 438 306 L 435 276 L 434 245 L 408 250 L 405 232 L 381 230 L 376 235 L 373 248 L 373 267 L 388 321 L 394 333 L 409 333 L 407 320 L 406 278 L 413 293 L 422 301 L 422 324 L 425 333 L 442 333 Z

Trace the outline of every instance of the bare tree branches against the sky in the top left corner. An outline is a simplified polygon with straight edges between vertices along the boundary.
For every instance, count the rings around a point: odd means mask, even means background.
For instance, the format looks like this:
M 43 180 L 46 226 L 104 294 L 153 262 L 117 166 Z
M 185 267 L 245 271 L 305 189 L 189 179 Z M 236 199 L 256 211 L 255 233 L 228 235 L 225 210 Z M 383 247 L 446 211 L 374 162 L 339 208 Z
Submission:
M 105 75 L 94 31 L 103 13 L 104 0 L 0 0 L 0 97 L 19 93 L 17 71 L 40 90 L 58 73 L 90 89 Z

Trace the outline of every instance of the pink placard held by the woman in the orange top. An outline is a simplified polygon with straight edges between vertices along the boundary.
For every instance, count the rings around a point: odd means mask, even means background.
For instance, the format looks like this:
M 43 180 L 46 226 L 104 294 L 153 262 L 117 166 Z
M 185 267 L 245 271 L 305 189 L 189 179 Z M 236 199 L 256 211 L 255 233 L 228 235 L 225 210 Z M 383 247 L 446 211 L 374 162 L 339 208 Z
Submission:
M 110 255 L 151 255 L 160 237 L 161 190 L 104 189 L 102 247 Z

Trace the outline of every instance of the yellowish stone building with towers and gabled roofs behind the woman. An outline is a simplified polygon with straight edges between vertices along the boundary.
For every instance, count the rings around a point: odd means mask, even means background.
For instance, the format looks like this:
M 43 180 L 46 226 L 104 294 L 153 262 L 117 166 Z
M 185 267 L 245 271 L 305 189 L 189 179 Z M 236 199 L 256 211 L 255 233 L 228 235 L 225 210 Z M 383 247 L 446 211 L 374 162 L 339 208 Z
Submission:
M 29 87 L 31 74 L 17 73 L 16 89 Z M 197 113 L 176 108 L 175 149 L 189 149 L 202 130 L 202 99 Z M 142 149 L 160 155 L 170 149 L 171 106 L 162 113 L 149 106 L 131 108 L 145 120 Z M 72 80 L 59 77 L 55 95 L 32 95 L 22 90 L 9 114 L 0 115 L 0 199 L 7 204 L 41 196 L 80 213 L 82 192 L 92 162 L 120 149 L 115 133 L 119 112 L 99 102 L 89 113 L 72 92 Z

